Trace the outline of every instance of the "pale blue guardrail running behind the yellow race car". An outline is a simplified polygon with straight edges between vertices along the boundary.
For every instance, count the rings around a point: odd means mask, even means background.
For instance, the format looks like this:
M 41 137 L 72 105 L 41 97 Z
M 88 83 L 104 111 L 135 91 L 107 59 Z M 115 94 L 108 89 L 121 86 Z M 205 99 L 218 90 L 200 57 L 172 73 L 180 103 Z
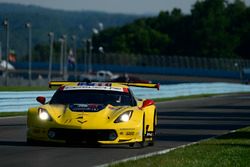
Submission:
M 220 94 L 250 92 L 249 85 L 229 83 L 188 83 L 161 85 L 160 91 L 132 88 L 139 98 L 165 98 L 198 94 Z M 45 96 L 48 100 L 54 91 L 0 92 L 0 112 L 27 111 L 29 107 L 40 105 L 37 96 Z

